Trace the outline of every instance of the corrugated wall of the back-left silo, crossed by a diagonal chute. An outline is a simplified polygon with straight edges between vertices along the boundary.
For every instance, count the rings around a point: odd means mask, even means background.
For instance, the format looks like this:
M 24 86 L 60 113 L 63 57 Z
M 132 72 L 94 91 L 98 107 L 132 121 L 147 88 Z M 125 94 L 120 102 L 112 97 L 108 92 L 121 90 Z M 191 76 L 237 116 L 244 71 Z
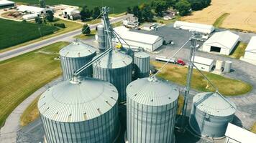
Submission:
M 80 69 L 82 66 L 87 64 L 93 57 L 96 56 L 96 52 L 84 57 L 70 58 L 60 56 L 61 68 L 63 70 L 63 77 L 65 80 L 69 80 L 73 77 L 73 72 Z M 81 72 L 81 77 L 92 77 L 93 70 L 92 66 L 88 67 Z

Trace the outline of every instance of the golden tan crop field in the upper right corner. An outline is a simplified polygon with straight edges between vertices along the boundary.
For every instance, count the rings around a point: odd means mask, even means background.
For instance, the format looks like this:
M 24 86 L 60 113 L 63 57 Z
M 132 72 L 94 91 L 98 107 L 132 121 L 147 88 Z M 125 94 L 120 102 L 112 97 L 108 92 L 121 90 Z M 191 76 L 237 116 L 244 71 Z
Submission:
M 201 11 L 195 11 L 191 16 L 181 20 L 202 24 L 214 24 L 221 20 L 219 27 L 256 31 L 256 2 L 255 0 L 211 0 L 211 5 Z M 226 14 L 226 16 L 223 16 Z M 218 22 L 217 22 L 218 23 Z

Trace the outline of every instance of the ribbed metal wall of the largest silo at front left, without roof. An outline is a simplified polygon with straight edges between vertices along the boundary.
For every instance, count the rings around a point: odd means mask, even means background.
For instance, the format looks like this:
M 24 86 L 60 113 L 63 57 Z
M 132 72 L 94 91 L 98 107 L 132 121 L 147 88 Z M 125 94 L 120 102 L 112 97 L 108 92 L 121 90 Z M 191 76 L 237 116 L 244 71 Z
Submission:
M 105 114 L 84 122 L 55 122 L 40 114 L 47 143 L 113 142 L 119 132 L 117 102 Z

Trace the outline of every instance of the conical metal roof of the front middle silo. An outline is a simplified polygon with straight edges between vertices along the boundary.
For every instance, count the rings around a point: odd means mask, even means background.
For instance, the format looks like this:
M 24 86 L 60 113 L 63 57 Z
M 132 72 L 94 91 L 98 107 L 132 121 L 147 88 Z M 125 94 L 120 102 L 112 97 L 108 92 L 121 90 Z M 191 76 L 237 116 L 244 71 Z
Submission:
M 155 78 L 137 79 L 127 86 L 127 96 L 148 106 L 163 106 L 178 99 L 178 89 L 169 82 Z

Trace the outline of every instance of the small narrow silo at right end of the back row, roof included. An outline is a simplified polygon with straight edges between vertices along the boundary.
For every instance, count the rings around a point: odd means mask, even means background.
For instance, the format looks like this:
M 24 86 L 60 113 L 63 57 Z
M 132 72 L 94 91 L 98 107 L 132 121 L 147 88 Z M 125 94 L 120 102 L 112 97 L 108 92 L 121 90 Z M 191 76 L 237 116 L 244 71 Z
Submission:
M 148 77 L 150 74 L 150 55 L 144 51 L 134 53 L 135 79 Z

